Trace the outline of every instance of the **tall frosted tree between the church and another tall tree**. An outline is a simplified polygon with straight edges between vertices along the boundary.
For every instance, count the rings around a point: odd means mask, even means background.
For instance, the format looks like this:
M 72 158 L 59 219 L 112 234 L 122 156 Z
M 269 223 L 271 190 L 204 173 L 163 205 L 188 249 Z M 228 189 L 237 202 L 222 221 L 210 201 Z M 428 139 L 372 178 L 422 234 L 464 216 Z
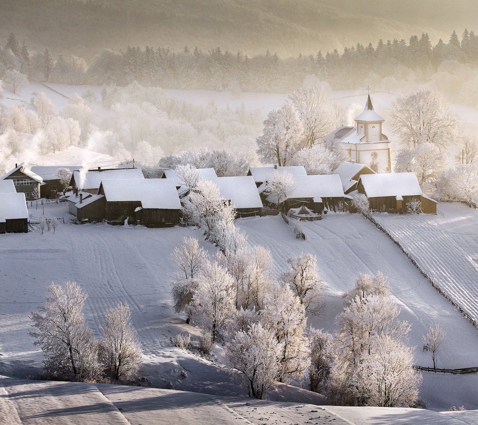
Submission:
M 323 138 L 333 127 L 332 105 L 327 100 L 327 90 L 324 86 L 301 88 L 293 92 L 289 99 L 299 113 L 304 128 L 304 147 L 311 148 L 322 143 Z

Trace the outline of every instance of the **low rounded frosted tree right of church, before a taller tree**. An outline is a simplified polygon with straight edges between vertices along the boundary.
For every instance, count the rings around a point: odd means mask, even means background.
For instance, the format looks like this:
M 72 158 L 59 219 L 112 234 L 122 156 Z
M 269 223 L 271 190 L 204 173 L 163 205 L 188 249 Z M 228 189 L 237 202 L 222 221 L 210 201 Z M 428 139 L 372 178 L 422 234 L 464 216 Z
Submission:
M 401 149 L 396 156 L 397 173 L 415 173 L 418 183 L 435 183 L 443 169 L 444 154 L 433 143 L 423 142 L 411 149 Z

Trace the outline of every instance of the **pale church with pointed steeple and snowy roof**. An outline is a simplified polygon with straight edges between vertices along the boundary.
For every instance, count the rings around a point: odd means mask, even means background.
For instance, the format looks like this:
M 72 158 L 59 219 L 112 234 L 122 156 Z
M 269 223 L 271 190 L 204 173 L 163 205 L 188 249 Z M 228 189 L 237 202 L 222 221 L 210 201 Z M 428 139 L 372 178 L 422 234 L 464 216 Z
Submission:
M 355 118 L 356 125 L 342 125 L 328 134 L 324 141 L 339 142 L 349 162 L 366 165 L 376 173 L 390 173 L 390 141 L 382 133 L 383 121 L 373 109 L 368 95 L 363 112 Z

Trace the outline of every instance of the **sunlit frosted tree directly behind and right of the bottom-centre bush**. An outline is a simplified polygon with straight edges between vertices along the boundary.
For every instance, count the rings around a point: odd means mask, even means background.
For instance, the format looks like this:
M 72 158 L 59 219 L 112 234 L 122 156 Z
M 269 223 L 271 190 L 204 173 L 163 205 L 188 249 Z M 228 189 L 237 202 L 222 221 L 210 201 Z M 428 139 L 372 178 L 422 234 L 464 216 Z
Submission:
M 279 381 L 301 378 L 310 364 L 304 305 L 287 286 L 276 283 L 267 295 L 261 319 L 282 344 Z

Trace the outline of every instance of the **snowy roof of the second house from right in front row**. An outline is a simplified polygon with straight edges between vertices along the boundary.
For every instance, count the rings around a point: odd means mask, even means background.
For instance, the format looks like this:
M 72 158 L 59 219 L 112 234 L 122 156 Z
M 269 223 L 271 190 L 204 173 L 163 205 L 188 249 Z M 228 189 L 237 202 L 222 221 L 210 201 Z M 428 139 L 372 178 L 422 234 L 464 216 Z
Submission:
M 342 182 L 337 174 L 320 174 L 317 176 L 299 176 L 295 179 L 295 188 L 287 199 L 314 198 L 314 202 L 322 202 L 320 198 L 343 198 Z M 269 202 L 277 202 L 273 196 Z M 283 202 L 282 199 L 280 202 Z

